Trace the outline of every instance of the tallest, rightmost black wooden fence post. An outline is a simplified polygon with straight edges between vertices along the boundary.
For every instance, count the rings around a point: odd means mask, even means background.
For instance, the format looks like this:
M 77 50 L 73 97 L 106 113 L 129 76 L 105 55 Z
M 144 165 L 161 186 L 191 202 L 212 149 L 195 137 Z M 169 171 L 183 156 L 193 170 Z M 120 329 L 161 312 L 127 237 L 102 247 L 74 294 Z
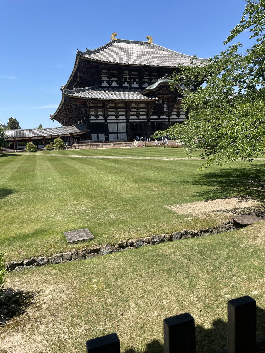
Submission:
M 227 304 L 227 352 L 256 351 L 256 301 L 246 295 Z

